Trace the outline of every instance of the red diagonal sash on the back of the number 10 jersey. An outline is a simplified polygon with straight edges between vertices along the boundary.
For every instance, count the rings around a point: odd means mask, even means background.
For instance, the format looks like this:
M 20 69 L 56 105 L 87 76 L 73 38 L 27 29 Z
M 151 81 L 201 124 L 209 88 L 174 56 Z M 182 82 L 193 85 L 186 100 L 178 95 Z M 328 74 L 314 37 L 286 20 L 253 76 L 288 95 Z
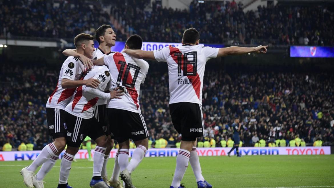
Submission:
M 120 72 L 121 64 L 119 64 L 118 62 L 119 61 L 126 62 L 125 59 L 124 59 L 124 56 L 123 56 L 123 54 L 117 52 L 113 57 L 114 57 L 114 62 L 116 64 L 117 70 L 118 70 L 118 72 Z M 123 73 L 125 72 L 126 68 L 127 68 L 127 64 L 125 64 L 125 66 L 124 66 Z M 124 79 L 124 75 L 125 74 L 122 75 L 122 80 Z M 126 82 L 127 83 L 132 83 L 132 75 L 130 73 L 128 74 L 128 78 L 127 78 Z M 137 110 L 138 110 L 139 104 L 138 104 L 138 100 L 137 100 L 138 93 L 137 93 L 136 87 L 133 87 L 133 89 L 126 87 L 126 89 L 129 90 L 129 91 L 132 91 L 132 92 L 129 92 L 129 94 L 131 95 L 131 98 L 132 98 L 133 102 L 136 104 Z

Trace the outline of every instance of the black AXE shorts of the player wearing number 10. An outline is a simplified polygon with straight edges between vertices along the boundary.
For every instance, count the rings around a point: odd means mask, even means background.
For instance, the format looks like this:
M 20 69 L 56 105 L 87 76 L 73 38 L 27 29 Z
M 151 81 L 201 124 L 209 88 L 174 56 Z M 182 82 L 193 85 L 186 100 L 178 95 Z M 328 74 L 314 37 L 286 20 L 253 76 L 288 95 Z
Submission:
M 115 108 L 108 108 L 108 117 L 113 138 L 122 143 L 129 138 L 133 141 L 145 139 L 149 136 L 144 117 L 141 113 Z

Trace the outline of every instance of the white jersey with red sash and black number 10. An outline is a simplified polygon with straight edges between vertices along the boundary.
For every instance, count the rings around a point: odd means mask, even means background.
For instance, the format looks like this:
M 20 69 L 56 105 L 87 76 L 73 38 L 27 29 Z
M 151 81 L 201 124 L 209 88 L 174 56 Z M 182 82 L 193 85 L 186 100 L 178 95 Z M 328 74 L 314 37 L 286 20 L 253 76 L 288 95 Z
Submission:
M 139 105 L 140 84 L 144 83 L 149 64 L 140 59 L 131 58 L 125 53 L 112 53 L 104 57 L 105 64 L 112 75 L 109 90 L 118 86 L 124 90 L 122 99 L 107 102 L 107 108 L 141 112 Z

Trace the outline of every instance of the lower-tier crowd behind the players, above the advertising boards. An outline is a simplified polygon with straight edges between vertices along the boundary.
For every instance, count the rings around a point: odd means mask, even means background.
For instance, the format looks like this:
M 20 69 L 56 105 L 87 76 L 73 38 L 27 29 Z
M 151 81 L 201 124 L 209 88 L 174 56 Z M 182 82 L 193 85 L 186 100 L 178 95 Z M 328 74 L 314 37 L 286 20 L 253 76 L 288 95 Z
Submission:
M 180 135 L 169 114 L 167 71 L 158 66 L 151 64 L 141 87 L 141 109 L 152 143 L 165 139 L 174 147 Z M 9 142 L 17 148 L 23 142 L 39 150 L 51 141 L 45 102 L 58 71 L 37 65 L 2 65 L 0 147 Z M 223 71 L 208 64 L 203 86 L 205 137 L 199 140 L 221 147 L 220 141 L 227 141 L 233 132 L 234 117 L 240 116 L 244 146 L 254 146 L 261 139 L 268 144 L 284 139 L 288 145 L 297 135 L 306 143 L 313 144 L 317 138 L 333 143 L 333 79 L 327 73 Z

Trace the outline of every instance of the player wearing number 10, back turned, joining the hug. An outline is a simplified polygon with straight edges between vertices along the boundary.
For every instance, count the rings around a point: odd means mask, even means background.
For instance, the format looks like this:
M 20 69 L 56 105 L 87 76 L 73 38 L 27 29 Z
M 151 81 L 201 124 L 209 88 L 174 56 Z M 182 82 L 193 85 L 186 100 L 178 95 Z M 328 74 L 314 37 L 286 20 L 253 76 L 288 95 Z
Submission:
M 139 35 L 130 36 L 125 42 L 125 49 L 141 49 L 142 38 Z M 112 53 L 99 59 L 94 64 L 106 64 L 112 73 L 110 90 L 121 87 L 125 95 L 122 99 L 111 100 L 107 104 L 111 130 L 119 143 L 116 158 L 119 171 L 126 188 L 133 188 L 130 174 L 145 157 L 148 149 L 149 132 L 139 105 L 140 85 L 144 83 L 149 65 L 144 60 L 131 58 L 125 53 Z M 117 76 L 116 76 L 117 75 Z M 129 162 L 129 148 L 132 138 L 136 149 Z M 116 162 L 116 159 L 115 159 Z M 119 171 L 114 169 L 110 181 L 118 180 Z M 112 185 L 112 184 L 111 184 Z

